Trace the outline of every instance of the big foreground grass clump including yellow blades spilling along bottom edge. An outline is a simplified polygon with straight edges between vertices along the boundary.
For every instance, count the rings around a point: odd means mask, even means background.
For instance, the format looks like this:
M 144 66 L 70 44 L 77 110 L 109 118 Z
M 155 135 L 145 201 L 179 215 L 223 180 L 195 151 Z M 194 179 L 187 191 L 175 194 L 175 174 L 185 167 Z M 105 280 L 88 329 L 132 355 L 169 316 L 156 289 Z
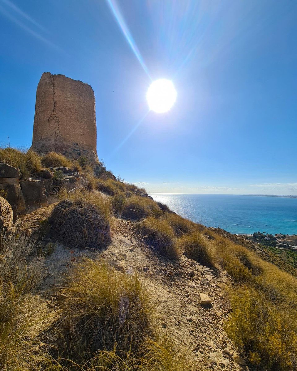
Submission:
M 170 341 L 155 332 L 152 301 L 137 273 L 82 259 L 65 293 L 54 326 L 63 370 L 185 370 Z

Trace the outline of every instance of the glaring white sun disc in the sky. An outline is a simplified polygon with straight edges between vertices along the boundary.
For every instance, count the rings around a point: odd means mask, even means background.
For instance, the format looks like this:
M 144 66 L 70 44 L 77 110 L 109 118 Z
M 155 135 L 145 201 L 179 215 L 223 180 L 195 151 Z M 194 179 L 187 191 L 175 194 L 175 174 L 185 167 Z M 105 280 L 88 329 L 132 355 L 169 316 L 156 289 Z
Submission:
M 176 90 L 172 81 L 159 79 L 153 81 L 146 93 L 150 109 L 157 113 L 169 111 L 176 100 Z

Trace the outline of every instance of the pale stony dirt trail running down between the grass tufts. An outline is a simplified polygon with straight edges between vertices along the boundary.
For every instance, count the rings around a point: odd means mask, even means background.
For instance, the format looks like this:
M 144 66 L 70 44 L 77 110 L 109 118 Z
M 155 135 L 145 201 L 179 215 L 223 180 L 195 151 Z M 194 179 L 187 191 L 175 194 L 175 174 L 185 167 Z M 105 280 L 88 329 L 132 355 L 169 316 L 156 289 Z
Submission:
M 38 226 L 40 219 L 49 216 L 56 205 L 31 210 L 21 218 L 30 228 Z M 156 302 L 157 325 L 176 344 L 187 349 L 194 361 L 194 370 L 247 370 L 235 359 L 238 357 L 223 330 L 230 308 L 224 287 L 231 278 L 222 270 L 208 267 L 182 255 L 178 263 L 160 256 L 138 234 L 136 222 L 116 219 L 112 222 L 112 243 L 107 250 L 89 251 L 66 247 L 55 240 L 43 242 L 54 247 L 45 258 L 48 269 L 39 294 L 49 307 L 59 309 L 59 295 L 63 278 L 80 256 L 98 257 L 98 254 L 120 271 L 141 272 Z M 211 305 L 200 305 L 199 293 L 211 298 Z

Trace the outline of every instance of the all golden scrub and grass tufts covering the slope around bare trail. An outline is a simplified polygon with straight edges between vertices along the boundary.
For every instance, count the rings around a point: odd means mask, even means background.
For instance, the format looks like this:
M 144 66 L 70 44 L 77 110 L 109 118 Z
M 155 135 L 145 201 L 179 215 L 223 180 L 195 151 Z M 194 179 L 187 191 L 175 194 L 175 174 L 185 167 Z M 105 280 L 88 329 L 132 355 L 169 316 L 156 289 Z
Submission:
M 173 264 L 185 254 L 214 270 L 226 270 L 232 285 L 226 291 L 231 312 L 225 331 L 250 369 L 297 368 L 293 266 L 288 269 L 292 274 L 285 272 L 287 265 L 277 259 L 272 264 L 274 255 L 263 255 L 251 242 L 176 215 L 145 190 L 120 177 L 115 180 L 102 163 L 97 175 L 106 174 L 105 180 L 94 175 L 87 160 L 74 162 L 53 153 L 40 157 L 12 148 L 1 149 L 0 156 L 19 167 L 23 177 L 43 167 L 84 169 L 88 189 L 67 193 L 61 188 L 61 201 L 47 222 L 69 247 L 106 249 L 113 220 L 123 217 L 134 220 L 138 235 L 160 259 Z M 157 331 L 144 279 L 138 273 L 117 272 L 99 257 L 75 260 L 66 276 L 61 310 L 43 310 L 35 289 L 45 271 L 42 255 L 34 258 L 34 246 L 34 239 L 19 232 L 0 238 L 1 370 L 190 369 L 184 356 L 177 357 L 175 345 Z M 45 317 L 52 318 L 46 328 Z

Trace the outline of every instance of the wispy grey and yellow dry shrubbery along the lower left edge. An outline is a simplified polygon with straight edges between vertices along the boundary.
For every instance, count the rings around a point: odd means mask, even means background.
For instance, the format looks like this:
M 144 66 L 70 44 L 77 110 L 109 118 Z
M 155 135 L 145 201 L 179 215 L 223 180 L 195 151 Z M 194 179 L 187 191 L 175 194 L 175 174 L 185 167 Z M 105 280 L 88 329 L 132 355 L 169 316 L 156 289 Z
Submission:
M 38 302 L 31 291 L 45 271 L 43 259 L 27 263 L 34 241 L 22 234 L 1 236 L 0 255 L 0 368 L 1 370 L 40 370 L 45 362 L 32 330 L 41 325 Z

